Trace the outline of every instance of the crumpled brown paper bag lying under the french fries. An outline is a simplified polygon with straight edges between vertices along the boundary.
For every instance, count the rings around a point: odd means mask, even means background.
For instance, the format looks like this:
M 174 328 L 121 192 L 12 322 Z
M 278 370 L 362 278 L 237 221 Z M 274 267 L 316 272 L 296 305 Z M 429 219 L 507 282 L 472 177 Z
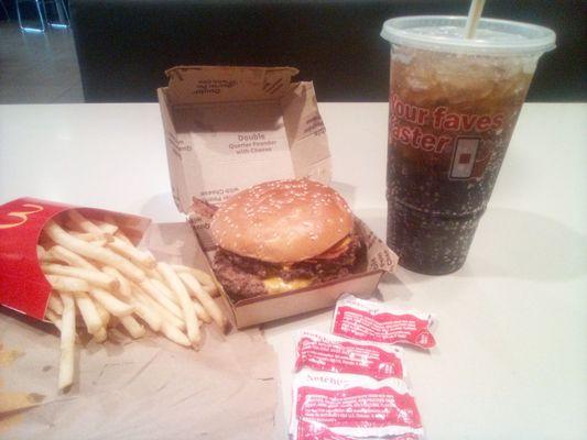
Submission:
M 21 205 L 11 206 L 10 212 Z M 55 209 L 69 208 L 58 205 Z M 149 222 L 130 218 L 137 224 Z M 6 223 L 7 218 L 0 216 L 0 224 Z M 159 261 L 209 271 L 187 222 L 152 223 L 134 232 L 137 238 L 142 235 L 140 246 Z M 75 383 L 63 394 L 57 389 L 58 332 L 53 324 L 4 310 L 0 402 L 10 405 L 18 398 L 28 407 L 0 411 L 0 438 L 274 438 L 278 360 L 259 329 L 225 336 L 214 324 L 206 326 L 198 352 L 151 331 L 140 340 L 110 332 L 115 334 L 104 344 L 84 340 L 76 345 Z

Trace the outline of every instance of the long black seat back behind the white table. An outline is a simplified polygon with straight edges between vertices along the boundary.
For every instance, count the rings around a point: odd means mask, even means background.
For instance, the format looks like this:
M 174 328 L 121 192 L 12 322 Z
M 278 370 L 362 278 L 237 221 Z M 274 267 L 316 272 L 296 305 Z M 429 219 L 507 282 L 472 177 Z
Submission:
M 72 0 L 86 100 L 154 101 L 175 65 L 289 65 L 320 101 L 385 101 L 385 19 L 466 14 L 468 0 Z M 557 33 L 530 101 L 585 101 L 585 1 L 490 0 L 483 16 Z

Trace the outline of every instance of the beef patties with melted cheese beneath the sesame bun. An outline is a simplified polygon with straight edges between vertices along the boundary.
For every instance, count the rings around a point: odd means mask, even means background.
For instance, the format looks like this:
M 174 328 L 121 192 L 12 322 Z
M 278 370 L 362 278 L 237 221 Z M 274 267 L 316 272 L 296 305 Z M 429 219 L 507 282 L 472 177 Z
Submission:
M 350 235 L 346 251 L 335 258 L 309 258 L 298 263 L 279 264 L 241 256 L 219 249 L 214 257 L 214 272 L 233 299 L 268 295 L 263 283 L 267 278 L 282 278 L 285 282 L 307 280 L 307 285 L 341 278 L 358 272 L 367 260 L 367 249 L 358 234 Z

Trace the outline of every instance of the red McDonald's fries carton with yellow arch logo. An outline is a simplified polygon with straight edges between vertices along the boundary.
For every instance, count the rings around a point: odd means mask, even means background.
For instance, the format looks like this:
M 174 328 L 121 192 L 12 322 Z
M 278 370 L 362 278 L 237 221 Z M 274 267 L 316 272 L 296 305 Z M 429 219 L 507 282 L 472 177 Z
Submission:
M 111 216 L 137 244 L 151 220 L 104 209 L 20 198 L 0 206 L 0 304 L 35 319 L 44 319 L 51 285 L 41 271 L 36 245 L 41 231 L 55 216 L 77 209 L 88 218 Z

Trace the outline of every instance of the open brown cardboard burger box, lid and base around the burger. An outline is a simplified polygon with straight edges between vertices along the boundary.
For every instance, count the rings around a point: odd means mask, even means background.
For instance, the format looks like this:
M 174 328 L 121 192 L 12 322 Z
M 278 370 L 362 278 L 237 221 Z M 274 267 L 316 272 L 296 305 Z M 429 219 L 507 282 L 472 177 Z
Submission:
M 209 218 L 194 206 L 219 205 L 252 185 L 307 177 L 331 178 L 326 129 L 312 82 L 293 82 L 292 67 L 178 66 L 157 90 L 173 198 L 188 216 L 209 267 L 215 243 Z M 398 256 L 359 219 L 367 243 L 360 274 L 276 295 L 233 301 L 221 290 L 237 328 L 318 310 L 347 292 L 371 294 Z

